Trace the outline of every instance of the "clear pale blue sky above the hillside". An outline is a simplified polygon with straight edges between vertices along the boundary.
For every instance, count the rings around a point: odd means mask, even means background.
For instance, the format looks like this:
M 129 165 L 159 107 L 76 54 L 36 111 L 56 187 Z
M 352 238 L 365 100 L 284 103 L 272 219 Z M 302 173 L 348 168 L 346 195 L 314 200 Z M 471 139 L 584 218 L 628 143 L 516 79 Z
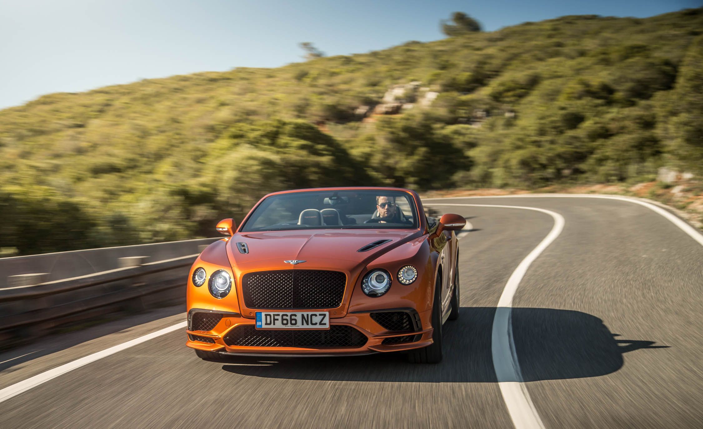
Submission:
M 463 11 L 487 31 L 562 15 L 644 18 L 703 0 L 0 0 L 0 109 L 39 95 L 301 60 L 444 37 Z

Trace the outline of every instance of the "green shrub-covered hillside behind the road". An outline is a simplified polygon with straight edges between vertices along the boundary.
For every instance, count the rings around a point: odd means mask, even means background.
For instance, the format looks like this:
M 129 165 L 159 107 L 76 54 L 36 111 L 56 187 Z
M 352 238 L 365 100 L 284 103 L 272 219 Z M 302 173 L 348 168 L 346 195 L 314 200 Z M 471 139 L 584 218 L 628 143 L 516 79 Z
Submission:
M 398 85 L 394 103 L 412 108 L 358 110 Z M 212 236 L 220 218 L 294 187 L 607 183 L 663 165 L 703 173 L 701 8 L 567 16 L 1 110 L 0 247 Z

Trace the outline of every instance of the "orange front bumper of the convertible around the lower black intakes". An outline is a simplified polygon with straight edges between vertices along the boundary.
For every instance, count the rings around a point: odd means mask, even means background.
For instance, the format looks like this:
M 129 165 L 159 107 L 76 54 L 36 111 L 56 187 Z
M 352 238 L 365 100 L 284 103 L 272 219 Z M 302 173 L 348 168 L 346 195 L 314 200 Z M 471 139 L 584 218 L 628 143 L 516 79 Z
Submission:
M 200 314 L 198 313 L 207 313 Z M 407 312 L 413 319 L 411 329 L 404 331 L 392 331 L 382 326 L 371 317 L 372 313 L 378 312 Z M 221 314 L 219 321 L 210 317 Z M 330 331 L 314 331 L 316 334 L 333 331 L 346 331 L 353 334 L 356 341 L 354 345 L 328 346 L 323 341 L 315 344 L 314 341 L 306 341 L 304 346 L 281 347 L 276 341 L 252 341 L 257 345 L 238 345 L 237 343 L 249 343 L 250 341 L 233 341 L 233 338 L 240 338 L 242 331 L 256 336 L 262 333 L 271 333 L 270 330 L 255 331 L 254 319 L 242 317 L 238 313 L 217 312 L 217 310 L 192 309 L 188 312 L 188 341 L 186 345 L 190 348 L 205 350 L 209 352 L 220 352 L 223 355 L 250 355 L 250 356 L 339 356 L 339 355 L 368 355 L 377 352 L 396 352 L 423 348 L 432 344 L 432 327 L 430 318 L 432 310 L 418 313 L 412 309 L 384 309 L 371 312 L 361 312 L 347 314 L 344 317 L 330 319 Z M 207 319 L 209 323 L 200 323 Z M 378 318 L 377 318 L 378 319 Z M 217 322 L 217 323 L 216 323 Z M 197 325 L 197 326 L 195 326 Z M 212 327 L 211 327 L 212 326 Z M 342 327 L 342 326 L 349 326 Z M 209 329 L 198 330 L 196 328 Z M 354 329 L 359 331 L 350 331 Z M 304 335 L 304 329 L 281 329 L 276 330 L 283 336 L 290 335 L 295 331 L 295 335 Z M 322 338 L 322 337 L 320 337 Z M 366 341 L 363 341 L 366 338 Z M 248 337 L 247 337 L 248 339 Z M 256 339 L 256 338 L 255 338 Z M 266 338 L 264 338 L 266 340 Z M 363 344 L 361 344 L 363 341 Z M 263 343 L 267 343 L 263 345 Z M 280 343 L 280 342 L 279 342 Z

